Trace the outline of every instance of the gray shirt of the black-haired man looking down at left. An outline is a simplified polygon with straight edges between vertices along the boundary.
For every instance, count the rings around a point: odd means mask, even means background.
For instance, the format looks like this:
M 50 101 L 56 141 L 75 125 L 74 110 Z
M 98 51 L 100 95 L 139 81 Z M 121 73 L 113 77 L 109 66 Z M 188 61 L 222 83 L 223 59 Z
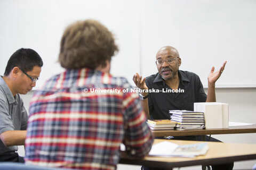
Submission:
M 0 134 L 6 131 L 26 130 L 28 114 L 20 95 L 13 97 L 11 90 L 0 76 Z M 6 147 L 0 140 L 1 155 L 13 154 L 18 146 Z

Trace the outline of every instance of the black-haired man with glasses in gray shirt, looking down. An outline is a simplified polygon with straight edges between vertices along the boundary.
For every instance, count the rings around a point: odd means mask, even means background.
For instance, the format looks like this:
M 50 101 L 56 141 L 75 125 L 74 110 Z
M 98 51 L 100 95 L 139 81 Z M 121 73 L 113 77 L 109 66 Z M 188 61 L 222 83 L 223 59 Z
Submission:
M 36 86 L 43 66 L 33 49 L 18 49 L 0 77 L 0 162 L 24 162 L 17 153 L 25 145 L 28 114 L 19 94 Z

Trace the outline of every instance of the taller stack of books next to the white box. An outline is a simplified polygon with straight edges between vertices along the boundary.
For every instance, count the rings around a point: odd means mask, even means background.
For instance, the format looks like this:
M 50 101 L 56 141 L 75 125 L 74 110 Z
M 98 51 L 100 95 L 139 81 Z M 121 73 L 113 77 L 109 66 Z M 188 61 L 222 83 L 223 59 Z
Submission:
M 205 129 L 204 113 L 186 110 L 171 110 L 171 120 L 178 122 L 177 130 Z

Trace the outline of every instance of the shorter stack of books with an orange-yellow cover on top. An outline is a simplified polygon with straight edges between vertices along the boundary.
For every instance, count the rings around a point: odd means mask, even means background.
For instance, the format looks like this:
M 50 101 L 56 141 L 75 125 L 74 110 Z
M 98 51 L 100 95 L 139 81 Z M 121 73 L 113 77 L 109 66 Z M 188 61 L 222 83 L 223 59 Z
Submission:
M 174 129 L 177 122 L 171 120 L 148 120 L 147 124 L 151 130 Z

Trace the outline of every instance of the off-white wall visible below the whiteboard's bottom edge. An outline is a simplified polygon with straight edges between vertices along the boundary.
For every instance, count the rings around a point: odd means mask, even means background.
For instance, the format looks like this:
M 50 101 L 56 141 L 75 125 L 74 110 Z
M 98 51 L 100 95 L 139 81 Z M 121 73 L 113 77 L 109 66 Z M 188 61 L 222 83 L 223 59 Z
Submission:
M 205 90 L 207 92 L 207 90 Z M 29 107 L 29 101 L 33 91 L 27 95 L 21 95 L 26 108 Z M 217 101 L 229 104 L 229 121 L 256 123 L 256 88 L 217 88 Z M 212 135 L 223 142 L 229 143 L 253 143 L 256 144 L 256 133 L 245 134 L 221 134 Z M 21 151 L 22 152 L 22 151 Z M 256 160 L 235 162 L 234 169 L 251 169 L 256 164 Z M 119 170 L 139 170 L 140 166 L 118 165 Z M 200 166 L 184 167 L 180 169 L 200 169 Z

